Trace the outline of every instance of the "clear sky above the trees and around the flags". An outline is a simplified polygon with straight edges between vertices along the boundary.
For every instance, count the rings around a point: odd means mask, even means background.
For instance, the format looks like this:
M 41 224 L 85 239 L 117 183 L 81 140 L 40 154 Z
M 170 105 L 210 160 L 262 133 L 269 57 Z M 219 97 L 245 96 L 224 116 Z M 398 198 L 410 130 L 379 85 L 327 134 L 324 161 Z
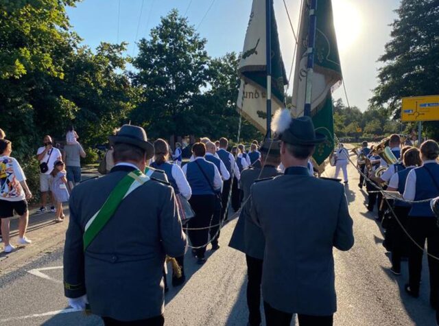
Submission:
M 324 0 L 328 1 L 328 0 Z M 297 32 L 300 0 L 285 0 Z M 351 106 L 368 107 L 372 89 L 377 86 L 377 62 L 390 40 L 389 26 L 400 0 L 333 0 L 337 42 L 344 83 Z M 244 37 L 251 0 L 82 0 L 75 8 L 67 8 L 73 30 L 91 48 L 100 42 L 129 43 L 127 54 L 137 54 L 137 40 L 148 37 L 152 27 L 160 23 L 172 8 L 189 19 L 200 36 L 206 38 L 209 56 L 239 52 Z M 274 0 L 279 39 L 285 69 L 292 66 L 294 36 L 289 26 L 283 0 Z M 288 93 L 292 93 L 292 81 Z M 333 97 L 346 103 L 343 88 Z

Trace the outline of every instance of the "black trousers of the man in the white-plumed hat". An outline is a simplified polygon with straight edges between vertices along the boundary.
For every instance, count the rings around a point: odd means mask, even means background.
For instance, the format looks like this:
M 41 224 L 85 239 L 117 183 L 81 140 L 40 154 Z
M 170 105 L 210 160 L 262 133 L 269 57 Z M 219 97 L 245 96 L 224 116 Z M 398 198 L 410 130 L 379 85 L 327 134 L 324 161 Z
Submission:
M 264 301 L 263 309 L 265 311 L 265 321 L 267 326 L 289 326 L 291 324 L 293 314 L 281 312 L 274 309 Z M 309 316 L 298 314 L 299 326 L 332 326 L 333 315 L 331 316 Z

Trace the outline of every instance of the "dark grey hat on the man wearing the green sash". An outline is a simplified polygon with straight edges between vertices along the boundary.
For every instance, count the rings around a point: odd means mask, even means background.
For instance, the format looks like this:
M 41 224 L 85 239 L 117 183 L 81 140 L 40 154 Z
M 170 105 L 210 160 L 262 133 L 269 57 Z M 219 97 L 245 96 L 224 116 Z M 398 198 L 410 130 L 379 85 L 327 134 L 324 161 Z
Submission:
M 134 145 L 145 150 L 147 160 L 154 156 L 154 145 L 148 141 L 146 132 L 141 127 L 126 124 L 119 129 L 116 135 L 112 135 L 108 138 L 110 139 L 111 145 L 128 143 L 129 145 Z

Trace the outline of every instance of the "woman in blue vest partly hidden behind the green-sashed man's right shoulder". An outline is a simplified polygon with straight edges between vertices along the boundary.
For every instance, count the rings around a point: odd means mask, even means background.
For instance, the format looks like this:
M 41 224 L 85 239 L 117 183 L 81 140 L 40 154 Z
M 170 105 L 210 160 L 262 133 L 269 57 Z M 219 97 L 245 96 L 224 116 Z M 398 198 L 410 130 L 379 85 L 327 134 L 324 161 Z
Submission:
M 169 183 L 174 188 L 176 198 L 178 202 L 182 200 L 189 200 L 191 198 L 191 187 L 186 180 L 185 174 L 182 172 L 181 167 L 174 163 L 169 163 L 169 145 L 163 139 L 157 139 L 154 141 L 154 162 L 151 163 L 151 167 L 157 170 L 162 170 L 165 172 Z M 181 198 L 181 196 L 183 198 Z M 181 216 L 182 223 L 185 222 L 184 217 Z M 180 286 L 182 283 L 185 283 L 185 255 L 180 257 L 175 257 L 178 265 L 181 269 L 181 277 L 176 277 L 176 275 L 172 275 L 172 286 Z

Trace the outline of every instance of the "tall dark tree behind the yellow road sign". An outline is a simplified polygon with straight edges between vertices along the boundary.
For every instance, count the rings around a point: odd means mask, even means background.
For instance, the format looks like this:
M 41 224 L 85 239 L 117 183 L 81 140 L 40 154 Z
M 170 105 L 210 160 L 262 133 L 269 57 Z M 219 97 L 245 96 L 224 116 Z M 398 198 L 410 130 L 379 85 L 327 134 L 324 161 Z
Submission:
M 439 90 L 439 1 L 402 0 L 392 39 L 379 58 L 379 86 L 370 102 L 388 105 L 400 117 L 401 98 L 436 95 Z M 439 137 L 439 123 L 425 124 L 431 137 Z

